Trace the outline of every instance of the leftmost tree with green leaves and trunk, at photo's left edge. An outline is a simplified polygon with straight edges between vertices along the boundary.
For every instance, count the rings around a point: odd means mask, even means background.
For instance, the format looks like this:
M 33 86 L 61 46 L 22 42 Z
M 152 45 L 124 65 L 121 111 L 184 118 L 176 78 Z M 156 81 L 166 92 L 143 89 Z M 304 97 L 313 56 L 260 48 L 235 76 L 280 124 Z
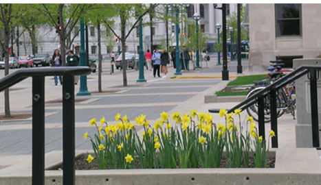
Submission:
M 14 27 L 18 25 L 19 18 L 21 18 L 20 13 L 19 4 L 0 4 L 0 30 L 2 30 L 0 45 L 5 56 L 5 75 L 9 74 L 9 42 Z M 11 114 L 8 88 L 4 90 L 4 99 L 5 117 L 9 118 L 11 117 Z

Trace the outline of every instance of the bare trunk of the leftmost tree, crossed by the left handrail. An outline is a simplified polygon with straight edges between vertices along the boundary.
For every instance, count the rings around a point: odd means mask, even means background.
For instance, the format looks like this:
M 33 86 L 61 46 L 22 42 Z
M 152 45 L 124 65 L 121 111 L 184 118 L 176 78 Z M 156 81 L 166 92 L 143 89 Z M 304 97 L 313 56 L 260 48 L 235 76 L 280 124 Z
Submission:
M 9 75 L 9 40 L 10 40 L 10 29 L 8 25 L 4 25 L 4 54 L 5 54 L 5 68 L 4 75 Z M 4 90 L 4 101 L 5 101 L 5 117 L 10 118 L 10 97 L 9 97 L 9 88 Z

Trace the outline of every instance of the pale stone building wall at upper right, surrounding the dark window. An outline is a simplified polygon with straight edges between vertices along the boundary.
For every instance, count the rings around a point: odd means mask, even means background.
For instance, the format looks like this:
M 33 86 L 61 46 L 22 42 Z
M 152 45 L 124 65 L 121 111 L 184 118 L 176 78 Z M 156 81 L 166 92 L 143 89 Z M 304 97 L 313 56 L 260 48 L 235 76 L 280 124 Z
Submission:
M 316 58 L 321 53 L 321 4 L 249 4 L 250 71 L 270 60 Z

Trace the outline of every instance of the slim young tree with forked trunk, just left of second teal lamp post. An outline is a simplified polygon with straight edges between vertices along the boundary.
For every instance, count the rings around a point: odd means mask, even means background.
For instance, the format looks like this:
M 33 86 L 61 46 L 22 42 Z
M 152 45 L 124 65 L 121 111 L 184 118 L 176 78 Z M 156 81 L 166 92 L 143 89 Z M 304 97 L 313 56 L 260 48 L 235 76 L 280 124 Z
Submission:
M 129 37 L 137 23 L 143 18 L 148 12 L 151 12 L 158 4 L 151 4 L 147 7 L 144 4 L 114 4 L 113 10 L 117 13 L 120 18 L 120 34 L 117 34 L 111 26 L 113 22 L 107 22 L 107 26 L 111 29 L 111 32 L 115 36 L 119 36 L 120 42 L 122 43 L 122 75 L 123 75 L 123 86 L 127 86 L 126 77 L 126 64 L 125 64 L 125 47 L 126 39 Z M 129 22 L 129 19 L 133 20 L 133 24 Z M 127 27 L 127 29 L 126 29 Z

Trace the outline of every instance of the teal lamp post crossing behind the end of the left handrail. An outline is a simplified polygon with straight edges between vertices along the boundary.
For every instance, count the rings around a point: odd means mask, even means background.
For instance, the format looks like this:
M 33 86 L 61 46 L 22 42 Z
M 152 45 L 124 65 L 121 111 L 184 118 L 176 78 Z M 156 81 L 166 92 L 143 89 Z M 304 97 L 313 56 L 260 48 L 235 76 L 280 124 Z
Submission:
M 85 25 L 82 19 L 80 20 L 80 66 L 87 66 L 86 64 L 86 51 L 85 51 Z M 90 95 L 87 89 L 87 76 L 80 76 L 80 88 L 77 96 Z

